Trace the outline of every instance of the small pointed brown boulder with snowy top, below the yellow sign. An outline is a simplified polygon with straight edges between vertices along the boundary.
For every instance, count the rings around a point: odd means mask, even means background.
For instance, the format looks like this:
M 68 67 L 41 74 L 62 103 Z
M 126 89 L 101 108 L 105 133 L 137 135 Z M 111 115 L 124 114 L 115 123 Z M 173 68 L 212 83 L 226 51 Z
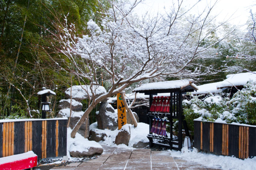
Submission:
M 128 146 L 131 138 L 131 124 L 125 124 L 115 137 L 115 144 L 126 144 Z

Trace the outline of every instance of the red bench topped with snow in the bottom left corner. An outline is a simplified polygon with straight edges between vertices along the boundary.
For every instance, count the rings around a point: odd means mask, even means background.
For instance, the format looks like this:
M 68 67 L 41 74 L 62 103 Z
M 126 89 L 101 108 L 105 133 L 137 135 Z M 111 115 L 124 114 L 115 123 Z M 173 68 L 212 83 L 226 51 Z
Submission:
M 0 169 L 32 169 L 37 166 L 37 155 L 33 151 L 0 158 Z

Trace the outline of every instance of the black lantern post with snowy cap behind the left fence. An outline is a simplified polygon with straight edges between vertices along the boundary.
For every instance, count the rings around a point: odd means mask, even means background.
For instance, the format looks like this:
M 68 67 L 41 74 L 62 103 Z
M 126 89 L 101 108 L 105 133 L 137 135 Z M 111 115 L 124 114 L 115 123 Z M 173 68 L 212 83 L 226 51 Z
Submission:
M 45 87 L 43 87 L 42 91 L 39 91 L 37 94 L 41 95 L 42 119 L 46 119 L 46 111 L 50 111 L 50 102 L 47 102 L 47 96 L 56 95 L 56 93 L 50 89 L 46 89 Z

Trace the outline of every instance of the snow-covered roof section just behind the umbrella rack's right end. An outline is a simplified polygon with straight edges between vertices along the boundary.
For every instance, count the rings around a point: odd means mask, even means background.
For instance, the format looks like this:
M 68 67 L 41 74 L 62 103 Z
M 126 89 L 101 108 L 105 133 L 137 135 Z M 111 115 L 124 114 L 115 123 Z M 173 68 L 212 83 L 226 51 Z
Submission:
M 192 92 L 192 94 L 206 94 L 206 93 L 221 93 L 222 90 L 217 89 L 217 86 L 221 82 L 216 82 L 216 83 L 208 83 L 208 84 L 203 84 L 198 87 L 197 91 Z

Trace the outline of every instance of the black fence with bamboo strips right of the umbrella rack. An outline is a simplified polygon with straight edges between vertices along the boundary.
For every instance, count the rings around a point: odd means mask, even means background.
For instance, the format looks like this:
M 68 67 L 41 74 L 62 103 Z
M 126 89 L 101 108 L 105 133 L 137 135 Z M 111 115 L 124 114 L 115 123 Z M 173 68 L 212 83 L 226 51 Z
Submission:
M 194 121 L 194 147 L 246 159 L 256 156 L 256 127 Z

